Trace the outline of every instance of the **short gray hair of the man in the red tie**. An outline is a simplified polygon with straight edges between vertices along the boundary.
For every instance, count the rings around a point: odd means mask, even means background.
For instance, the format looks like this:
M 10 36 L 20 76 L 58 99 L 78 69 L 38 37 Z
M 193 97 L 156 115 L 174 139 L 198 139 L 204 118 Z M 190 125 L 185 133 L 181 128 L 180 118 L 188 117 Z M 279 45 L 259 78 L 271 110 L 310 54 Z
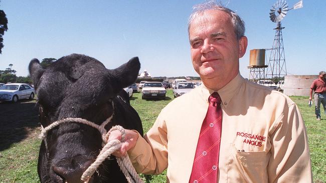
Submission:
M 196 4 L 193 6 L 193 12 L 191 13 L 188 21 L 188 33 L 190 30 L 190 26 L 192 21 L 199 16 L 200 14 L 203 14 L 205 11 L 210 9 L 216 9 L 221 10 L 230 15 L 231 22 L 234 27 L 234 32 L 237 36 L 237 39 L 240 40 L 242 36 L 244 36 L 245 32 L 245 26 L 244 21 L 240 18 L 240 16 L 234 12 L 233 10 L 223 6 L 221 3 L 217 3 L 216 0 L 209 0 L 201 4 Z

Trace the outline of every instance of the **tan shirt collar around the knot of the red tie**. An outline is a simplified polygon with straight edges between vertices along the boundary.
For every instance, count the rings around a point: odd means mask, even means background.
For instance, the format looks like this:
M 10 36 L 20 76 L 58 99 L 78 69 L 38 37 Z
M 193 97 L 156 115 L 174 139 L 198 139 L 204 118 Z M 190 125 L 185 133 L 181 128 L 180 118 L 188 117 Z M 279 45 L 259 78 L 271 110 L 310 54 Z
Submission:
M 238 73 L 237 76 L 235 76 L 229 83 L 217 91 L 221 96 L 222 104 L 225 108 L 227 108 L 233 95 L 239 91 L 243 81 L 244 78 L 240 75 L 240 73 Z M 215 90 L 212 90 L 202 84 L 202 97 L 206 102 L 208 102 L 208 98 L 213 92 L 215 92 Z

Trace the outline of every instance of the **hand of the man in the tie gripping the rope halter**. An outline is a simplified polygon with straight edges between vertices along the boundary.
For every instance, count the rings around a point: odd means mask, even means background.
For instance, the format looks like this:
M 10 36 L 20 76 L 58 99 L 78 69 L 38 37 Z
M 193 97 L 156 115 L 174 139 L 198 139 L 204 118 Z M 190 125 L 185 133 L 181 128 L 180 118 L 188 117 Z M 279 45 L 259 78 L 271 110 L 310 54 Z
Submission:
M 112 154 L 117 157 L 125 156 L 127 151 L 135 146 L 138 139 L 138 133 L 129 129 L 125 129 L 125 141 L 119 150 L 116 150 Z M 119 130 L 111 131 L 108 141 L 118 139 L 121 140 L 121 132 Z

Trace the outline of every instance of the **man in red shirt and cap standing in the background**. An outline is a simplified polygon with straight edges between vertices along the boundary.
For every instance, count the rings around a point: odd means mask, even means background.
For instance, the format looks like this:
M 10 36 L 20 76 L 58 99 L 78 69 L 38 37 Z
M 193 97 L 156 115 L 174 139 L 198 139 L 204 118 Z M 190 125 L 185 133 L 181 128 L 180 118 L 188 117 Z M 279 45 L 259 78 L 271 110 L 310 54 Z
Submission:
M 312 99 L 312 91 L 314 91 L 314 113 L 316 114 L 316 119 L 320 120 L 320 103 L 322 103 L 323 109 L 326 113 L 326 80 L 325 80 L 325 71 L 320 71 L 318 78 L 313 80 L 310 86 L 310 97 Z

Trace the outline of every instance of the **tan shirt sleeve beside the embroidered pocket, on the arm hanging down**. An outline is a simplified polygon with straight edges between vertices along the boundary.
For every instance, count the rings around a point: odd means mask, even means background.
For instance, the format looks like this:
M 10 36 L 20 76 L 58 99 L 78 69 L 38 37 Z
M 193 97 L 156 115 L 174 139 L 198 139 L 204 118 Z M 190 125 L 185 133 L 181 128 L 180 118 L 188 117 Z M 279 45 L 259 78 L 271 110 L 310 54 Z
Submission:
M 285 107 L 282 115 L 270 134 L 269 182 L 312 182 L 308 139 L 302 116 L 295 103 Z

